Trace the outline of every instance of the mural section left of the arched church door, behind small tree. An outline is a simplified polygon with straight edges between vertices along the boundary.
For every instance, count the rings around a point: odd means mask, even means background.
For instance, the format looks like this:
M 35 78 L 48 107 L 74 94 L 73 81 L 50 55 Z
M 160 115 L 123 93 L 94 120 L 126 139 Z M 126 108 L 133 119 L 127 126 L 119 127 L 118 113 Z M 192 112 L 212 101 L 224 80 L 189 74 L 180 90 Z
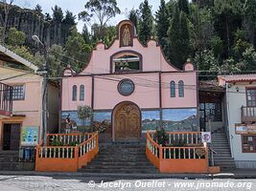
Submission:
M 70 132 L 91 132 L 98 131 L 100 133 L 111 131 L 111 112 L 96 112 L 93 113 L 93 124 L 91 127 L 90 119 L 87 119 L 85 123 L 78 117 L 76 111 L 62 112 L 61 114 L 61 132 L 66 132 L 69 126 Z

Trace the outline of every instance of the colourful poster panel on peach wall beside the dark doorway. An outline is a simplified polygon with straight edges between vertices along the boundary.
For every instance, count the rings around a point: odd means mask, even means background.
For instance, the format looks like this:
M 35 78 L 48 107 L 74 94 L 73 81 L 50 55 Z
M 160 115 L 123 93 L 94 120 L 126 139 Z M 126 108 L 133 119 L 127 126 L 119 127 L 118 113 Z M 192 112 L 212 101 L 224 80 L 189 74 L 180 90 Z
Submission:
M 38 144 L 39 127 L 22 127 L 21 146 L 36 146 Z

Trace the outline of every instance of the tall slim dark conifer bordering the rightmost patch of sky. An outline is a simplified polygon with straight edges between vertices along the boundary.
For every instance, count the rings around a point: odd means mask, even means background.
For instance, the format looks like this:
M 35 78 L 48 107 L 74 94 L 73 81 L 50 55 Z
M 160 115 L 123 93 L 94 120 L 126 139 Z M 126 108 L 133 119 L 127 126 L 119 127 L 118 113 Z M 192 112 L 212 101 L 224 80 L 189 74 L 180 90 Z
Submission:
M 169 28 L 168 10 L 164 0 L 161 0 L 159 10 L 155 14 L 156 18 L 156 35 L 159 44 L 167 52 L 167 32 Z

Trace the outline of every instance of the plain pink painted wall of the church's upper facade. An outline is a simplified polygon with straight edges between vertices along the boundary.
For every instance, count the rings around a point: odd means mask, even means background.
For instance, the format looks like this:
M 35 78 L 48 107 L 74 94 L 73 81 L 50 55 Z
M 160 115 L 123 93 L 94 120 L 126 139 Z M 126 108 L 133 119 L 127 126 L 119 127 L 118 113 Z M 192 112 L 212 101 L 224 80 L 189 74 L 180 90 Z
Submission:
M 124 21 L 126 23 L 127 21 Z M 122 22 L 121 22 L 122 25 Z M 110 57 L 114 53 L 121 51 L 133 51 L 142 55 L 142 72 L 140 74 L 110 74 Z M 62 79 L 62 111 L 75 111 L 77 106 L 85 104 L 91 106 L 92 77 L 84 76 L 94 74 L 94 109 L 113 109 L 115 105 L 122 101 L 132 101 L 140 108 L 159 108 L 159 72 L 162 73 L 162 107 L 163 108 L 188 108 L 198 107 L 198 84 L 194 66 L 185 64 L 185 71 L 176 69 L 168 63 L 161 52 L 156 41 L 150 40 L 147 46 L 143 46 L 137 37 L 133 38 L 133 46 L 120 47 L 119 39 L 115 39 L 113 44 L 106 48 L 104 43 L 99 43 L 91 53 L 88 65 L 80 74 L 71 76 L 70 69 L 64 71 Z M 151 73 L 147 73 L 151 72 Z M 154 73 L 153 73 L 154 72 Z M 99 75 L 104 74 L 104 75 Z M 81 76 L 83 75 L 83 76 Z M 135 84 L 135 91 L 130 96 L 122 96 L 117 90 L 119 81 L 124 78 L 131 79 Z M 184 81 L 184 97 L 170 96 L 170 82 L 175 80 Z M 85 101 L 72 101 L 72 86 L 85 86 Z M 193 87 L 189 89 L 188 87 Z M 78 91 L 79 96 L 79 91 Z

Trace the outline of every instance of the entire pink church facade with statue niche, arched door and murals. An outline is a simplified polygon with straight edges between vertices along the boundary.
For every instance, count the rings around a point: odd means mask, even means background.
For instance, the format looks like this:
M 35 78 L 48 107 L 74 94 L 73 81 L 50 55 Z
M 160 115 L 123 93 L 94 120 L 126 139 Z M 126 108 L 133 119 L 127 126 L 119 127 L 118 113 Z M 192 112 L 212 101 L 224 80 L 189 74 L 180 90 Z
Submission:
M 81 73 L 66 68 L 61 81 L 61 128 L 68 117 L 78 127 L 103 126 L 107 138 L 140 139 L 163 126 L 167 131 L 198 131 L 198 78 L 194 65 L 183 70 L 167 61 L 155 40 L 140 43 L 128 20 L 117 26 L 106 47 L 98 43 Z M 78 106 L 90 106 L 92 119 L 78 117 Z M 76 128 L 77 129 L 77 128 Z

